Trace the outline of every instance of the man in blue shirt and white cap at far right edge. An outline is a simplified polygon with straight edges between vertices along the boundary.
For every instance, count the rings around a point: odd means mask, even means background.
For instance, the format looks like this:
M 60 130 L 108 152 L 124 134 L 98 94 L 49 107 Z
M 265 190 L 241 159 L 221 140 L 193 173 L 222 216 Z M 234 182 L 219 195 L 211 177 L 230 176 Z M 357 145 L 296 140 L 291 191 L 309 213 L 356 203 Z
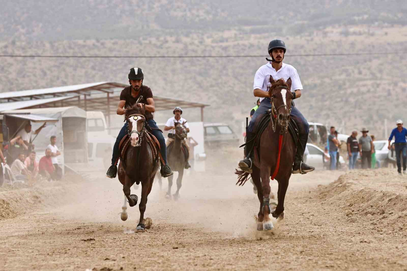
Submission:
M 396 159 L 397 159 L 397 171 L 398 174 L 401 175 L 401 163 L 400 163 L 400 152 L 403 155 L 403 174 L 407 174 L 406 171 L 406 165 L 407 165 L 407 129 L 403 128 L 403 121 L 399 119 L 396 121 L 397 128 L 394 128 L 392 130 L 392 134 L 390 134 L 389 137 L 389 146 L 387 147 L 389 150 L 391 150 L 392 145 L 390 142 L 392 141 L 394 137 L 394 148 L 396 150 Z

